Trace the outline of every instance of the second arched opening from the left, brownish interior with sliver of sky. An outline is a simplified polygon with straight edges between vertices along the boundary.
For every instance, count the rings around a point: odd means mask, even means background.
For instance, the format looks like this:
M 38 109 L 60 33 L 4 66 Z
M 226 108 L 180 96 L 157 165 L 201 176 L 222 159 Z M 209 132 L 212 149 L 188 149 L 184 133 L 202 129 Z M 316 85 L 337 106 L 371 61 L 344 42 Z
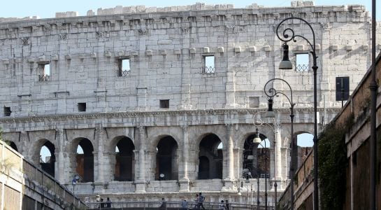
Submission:
M 92 142 L 89 139 L 79 137 L 74 139 L 72 146 L 74 173 L 80 176 L 81 182 L 94 181 L 94 147 Z M 78 147 L 82 148 L 83 153 L 77 153 Z

